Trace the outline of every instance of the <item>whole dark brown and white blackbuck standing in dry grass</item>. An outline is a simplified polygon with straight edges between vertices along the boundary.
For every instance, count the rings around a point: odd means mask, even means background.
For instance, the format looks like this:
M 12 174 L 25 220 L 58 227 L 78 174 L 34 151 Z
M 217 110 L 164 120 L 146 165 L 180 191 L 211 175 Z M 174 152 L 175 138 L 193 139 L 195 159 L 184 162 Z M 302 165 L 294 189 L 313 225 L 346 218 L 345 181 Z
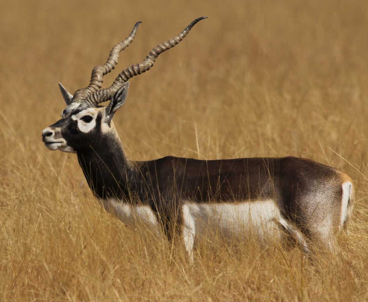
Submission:
M 42 141 L 49 150 L 77 154 L 89 187 L 107 210 L 127 225 L 138 220 L 163 231 L 169 240 L 180 235 L 191 260 L 197 238 L 209 229 L 226 237 L 251 228 L 262 242 L 287 236 L 306 253 L 312 245 L 335 250 L 336 235 L 346 229 L 354 200 L 350 177 L 332 167 L 296 157 L 125 157 L 112 119 L 127 98 L 128 80 L 149 70 L 204 18 L 157 45 L 141 63 L 124 69 L 110 87 L 101 89 L 103 76 L 134 39 L 137 22 L 112 48 L 106 63 L 93 68 L 88 87 L 72 95 L 59 84 L 67 107 L 59 121 L 42 131 Z M 99 105 L 109 100 L 107 107 Z

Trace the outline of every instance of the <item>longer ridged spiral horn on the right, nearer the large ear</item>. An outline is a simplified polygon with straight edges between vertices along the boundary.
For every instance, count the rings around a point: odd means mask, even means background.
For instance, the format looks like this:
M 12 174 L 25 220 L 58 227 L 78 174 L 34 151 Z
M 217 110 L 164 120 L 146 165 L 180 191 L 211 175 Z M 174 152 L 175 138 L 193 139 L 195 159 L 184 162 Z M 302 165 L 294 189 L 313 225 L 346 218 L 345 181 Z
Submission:
M 115 79 L 113 84 L 108 87 L 98 91 L 93 92 L 91 95 L 88 96 L 86 102 L 89 105 L 97 106 L 99 103 L 109 101 L 113 98 L 114 94 L 118 89 L 127 82 L 130 78 L 134 77 L 135 75 L 142 74 L 147 70 L 151 69 L 153 63 L 155 63 L 157 57 L 163 53 L 164 51 L 173 48 L 176 46 L 180 41 L 182 41 L 188 32 L 192 29 L 192 27 L 202 19 L 207 17 L 201 17 L 192 21 L 179 35 L 175 36 L 174 38 L 167 40 L 155 48 L 151 50 L 151 52 L 146 56 L 143 62 L 131 65 L 130 67 L 124 69 Z

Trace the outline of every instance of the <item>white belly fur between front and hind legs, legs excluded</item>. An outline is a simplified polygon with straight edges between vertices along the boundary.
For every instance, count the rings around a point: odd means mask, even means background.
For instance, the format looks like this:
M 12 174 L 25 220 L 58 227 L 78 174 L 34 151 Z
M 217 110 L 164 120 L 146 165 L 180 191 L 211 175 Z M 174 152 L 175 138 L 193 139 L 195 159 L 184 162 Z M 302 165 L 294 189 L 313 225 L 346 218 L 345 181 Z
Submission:
M 191 203 L 183 205 L 184 227 L 195 236 L 209 232 L 226 238 L 254 233 L 262 239 L 280 236 L 280 211 L 273 200 L 241 203 Z

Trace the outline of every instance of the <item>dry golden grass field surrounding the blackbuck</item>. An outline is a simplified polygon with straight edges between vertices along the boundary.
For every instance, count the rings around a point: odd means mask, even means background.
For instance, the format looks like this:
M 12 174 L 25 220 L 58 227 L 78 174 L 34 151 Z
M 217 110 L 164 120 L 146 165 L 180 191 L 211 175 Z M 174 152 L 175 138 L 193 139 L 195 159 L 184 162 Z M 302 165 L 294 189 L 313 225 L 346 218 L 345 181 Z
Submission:
M 366 1 L 1 1 L 0 301 L 367 301 Z M 342 252 L 180 244 L 131 230 L 90 192 L 74 154 L 41 131 L 65 108 L 57 82 L 93 66 L 141 20 L 104 87 L 199 22 L 130 80 L 114 123 L 129 159 L 294 155 L 354 180 Z

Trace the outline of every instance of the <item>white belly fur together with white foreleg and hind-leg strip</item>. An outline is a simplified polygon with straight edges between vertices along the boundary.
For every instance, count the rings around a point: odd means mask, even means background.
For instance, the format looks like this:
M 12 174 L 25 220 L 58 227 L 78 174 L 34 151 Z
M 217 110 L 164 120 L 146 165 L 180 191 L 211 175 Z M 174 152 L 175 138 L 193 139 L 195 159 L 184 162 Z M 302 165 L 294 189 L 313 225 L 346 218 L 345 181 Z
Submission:
M 269 239 L 280 239 L 285 235 L 280 226 L 290 233 L 305 252 L 307 242 L 291 222 L 285 220 L 271 199 L 244 201 L 241 203 L 192 203 L 182 206 L 183 239 L 191 261 L 195 239 L 208 231 L 219 232 L 227 238 L 254 232 L 266 243 Z

